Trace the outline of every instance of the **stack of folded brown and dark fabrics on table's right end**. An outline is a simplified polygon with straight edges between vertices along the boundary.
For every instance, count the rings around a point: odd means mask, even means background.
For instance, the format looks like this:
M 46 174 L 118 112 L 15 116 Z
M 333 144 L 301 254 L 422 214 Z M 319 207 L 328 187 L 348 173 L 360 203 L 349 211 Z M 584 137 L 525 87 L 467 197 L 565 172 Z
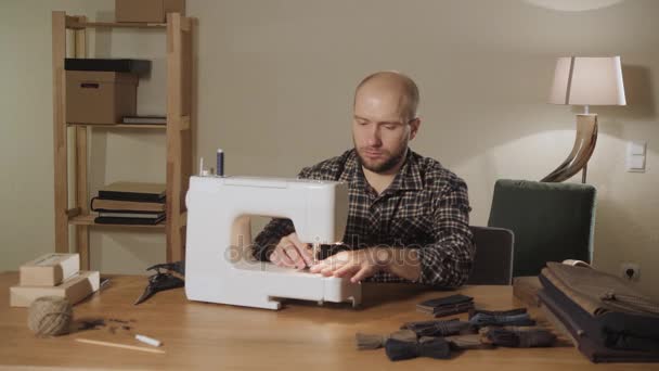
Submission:
M 622 279 L 547 263 L 538 296 L 593 362 L 659 361 L 659 305 Z

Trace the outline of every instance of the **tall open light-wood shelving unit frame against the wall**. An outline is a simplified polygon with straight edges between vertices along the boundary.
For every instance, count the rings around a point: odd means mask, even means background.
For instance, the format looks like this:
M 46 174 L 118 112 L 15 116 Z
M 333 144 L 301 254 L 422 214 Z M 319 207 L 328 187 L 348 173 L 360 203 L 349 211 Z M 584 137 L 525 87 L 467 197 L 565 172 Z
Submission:
M 76 251 L 80 254 L 82 269 L 89 269 L 89 229 L 96 227 L 126 228 L 129 230 L 164 230 L 167 233 L 167 260 L 181 260 L 185 248 L 185 192 L 192 174 L 192 102 L 193 59 L 192 43 L 195 18 L 178 13 L 167 15 L 167 23 L 140 24 L 114 22 L 88 22 L 85 16 L 70 16 L 65 12 L 52 13 L 53 48 L 53 138 L 54 138 L 54 189 L 55 189 L 55 251 L 69 248 L 69 226 L 75 230 Z M 73 55 L 87 57 L 87 29 L 92 27 L 161 28 L 167 31 L 167 125 L 85 125 L 66 123 L 66 81 L 64 60 L 67 56 L 67 30 L 73 33 Z M 68 142 L 68 129 L 74 131 Z M 167 217 L 156 226 L 99 225 L 89 210 L 88 186 L 88 132 L 102 130 L 165 130 L 167 136 Z M 69 168 L 67 156 L 72 153 L 75 166 L 75 194 L 68 194 Z M 70 200 L 69 196 L 73 199 Z M 74 207 L 68 207 L 69 200 Z

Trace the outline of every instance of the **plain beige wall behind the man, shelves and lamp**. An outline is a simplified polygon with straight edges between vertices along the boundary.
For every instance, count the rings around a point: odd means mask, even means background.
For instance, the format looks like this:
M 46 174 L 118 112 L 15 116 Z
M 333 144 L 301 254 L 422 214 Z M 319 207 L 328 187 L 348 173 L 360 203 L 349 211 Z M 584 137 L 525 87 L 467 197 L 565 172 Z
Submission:
M 15 269 L 52 250 L 50 11 L 107 20 L 113 1 L 0 7 L 0 269 Z M 359 79 L 399 69 L 422 90 L 424 123 L 412 146 L 467 181 L 475 225 L 487 222 L 496 179 L 539 179 L 572 145 L 580 108 L 544 103 L 554 59 L 622 55 L 629 106 L 593 110 L 600 120 L 589 167 L 599 192 L 595 264 L 617 272 L 622 261 L 639 263 L 639 287 L 659 297 L 658 1 L 189 0 L 188 10 L 199 17 L 197 155 L 212 158 L 222 148 L 228 174 L 294 176 L 351 145 Z M 139 104 L 163 111 L 161 35 L 131 33 L 90 35 L 90 48 L 96 56 L 155 59 Z M 624 170 L 630 140 L 648 142 L 645 174 Z M 157 133 L 95 133 L 92 159 L 104 165 L 94 167 L 92 190 L 164 179 L 163 144 Z M 137 272 L 164 260 L 163 243 L 160 234 L 93 233 L 92 265 Z

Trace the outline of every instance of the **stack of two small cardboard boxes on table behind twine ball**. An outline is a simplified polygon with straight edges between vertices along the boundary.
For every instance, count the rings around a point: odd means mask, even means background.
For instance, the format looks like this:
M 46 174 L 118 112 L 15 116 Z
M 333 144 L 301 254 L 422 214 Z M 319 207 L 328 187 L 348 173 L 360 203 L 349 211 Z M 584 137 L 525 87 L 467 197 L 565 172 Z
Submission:
M 80 271 L 78 254 L 47 254 L 21 266 L 21 282 L 10 289 L 10 306 L 29 307 L 41 296 L 61 296 L 72 305 L 100 287 L 98 271 Z

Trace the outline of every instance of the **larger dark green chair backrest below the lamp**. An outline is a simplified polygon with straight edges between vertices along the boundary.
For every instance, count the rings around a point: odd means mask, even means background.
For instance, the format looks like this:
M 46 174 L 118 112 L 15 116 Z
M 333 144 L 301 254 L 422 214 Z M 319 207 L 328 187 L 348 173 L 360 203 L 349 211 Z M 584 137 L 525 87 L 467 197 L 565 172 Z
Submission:
M 589 184 L 498 180 L 488 226 L 515 233 L 513 277 L 537 276 L 546 261 L 591 263 L 595 196 Z

